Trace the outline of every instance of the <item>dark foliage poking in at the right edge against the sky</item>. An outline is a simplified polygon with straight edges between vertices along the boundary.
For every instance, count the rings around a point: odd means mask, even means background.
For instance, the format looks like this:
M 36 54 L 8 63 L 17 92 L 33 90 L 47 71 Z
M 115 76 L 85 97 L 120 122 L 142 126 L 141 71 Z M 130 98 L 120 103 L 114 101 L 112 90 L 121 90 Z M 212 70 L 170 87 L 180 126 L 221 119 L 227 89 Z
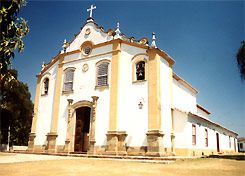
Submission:
M 236 59 L 241 79 L 245 80 L 245 41 L 242 41 L 242 45 L 237 52 Z

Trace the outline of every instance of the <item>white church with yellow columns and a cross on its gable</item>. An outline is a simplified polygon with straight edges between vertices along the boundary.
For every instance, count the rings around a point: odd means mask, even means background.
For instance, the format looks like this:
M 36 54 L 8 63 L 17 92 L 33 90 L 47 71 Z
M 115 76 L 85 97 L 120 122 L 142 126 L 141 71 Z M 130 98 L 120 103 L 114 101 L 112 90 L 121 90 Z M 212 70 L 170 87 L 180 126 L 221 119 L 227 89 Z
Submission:
M 156 35 L 139 40 L 89 17 L 37 75 L 28 152 L 200 156 L 237 152 Z

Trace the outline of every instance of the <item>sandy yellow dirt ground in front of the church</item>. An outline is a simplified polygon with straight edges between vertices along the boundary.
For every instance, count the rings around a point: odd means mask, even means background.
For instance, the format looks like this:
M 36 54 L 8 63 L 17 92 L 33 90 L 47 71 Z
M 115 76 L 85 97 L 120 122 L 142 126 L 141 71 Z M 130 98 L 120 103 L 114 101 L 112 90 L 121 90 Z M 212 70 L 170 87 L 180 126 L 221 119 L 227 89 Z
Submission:
M 3 159 L 0 155 L 0 160 Z M 245 161 L 194 159 L 172 164 L 65 159 L 0 164 L 0 176 L 245 176 Z

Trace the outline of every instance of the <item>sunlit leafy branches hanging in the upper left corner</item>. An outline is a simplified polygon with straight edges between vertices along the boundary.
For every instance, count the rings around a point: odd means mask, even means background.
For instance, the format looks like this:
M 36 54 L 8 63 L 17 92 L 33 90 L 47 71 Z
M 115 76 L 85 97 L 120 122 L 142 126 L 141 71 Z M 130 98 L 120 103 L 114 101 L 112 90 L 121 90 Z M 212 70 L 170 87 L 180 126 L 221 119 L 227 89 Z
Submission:
M 23 37 L 29 32 L 27 22 L 17 14 L 25 0 L 0 1 L 0 80 L 9 82 L 14 76 L 8 72 L 14 51 L 23 51 Z

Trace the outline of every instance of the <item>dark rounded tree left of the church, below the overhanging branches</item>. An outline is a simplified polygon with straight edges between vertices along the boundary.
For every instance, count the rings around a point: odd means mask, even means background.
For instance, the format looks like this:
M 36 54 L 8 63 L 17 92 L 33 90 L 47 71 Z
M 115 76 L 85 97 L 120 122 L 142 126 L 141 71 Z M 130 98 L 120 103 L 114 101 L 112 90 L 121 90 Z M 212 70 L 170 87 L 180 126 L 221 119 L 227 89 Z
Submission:
M 28 86 L 18 81 L 16 70 L 9 70 L 14 79 L 6 82 L 1 94 L 1 143 L 7 143 L 10 126 L 10 145 L 27 145 L 31 128 L 33 103 Z

